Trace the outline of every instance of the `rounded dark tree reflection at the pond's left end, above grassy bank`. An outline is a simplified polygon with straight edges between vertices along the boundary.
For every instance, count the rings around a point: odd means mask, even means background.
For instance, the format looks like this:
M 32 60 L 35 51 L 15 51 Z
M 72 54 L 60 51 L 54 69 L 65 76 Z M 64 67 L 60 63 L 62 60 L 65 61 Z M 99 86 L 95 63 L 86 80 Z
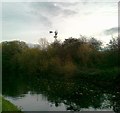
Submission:
M 29 91 L 29 87 L 26 85 L 28 83 L 27 79 L 23 79 L 19 75 L 10 75 L 7 80 L 2 82 L 2 93 L 6 96 L 21 96 Z

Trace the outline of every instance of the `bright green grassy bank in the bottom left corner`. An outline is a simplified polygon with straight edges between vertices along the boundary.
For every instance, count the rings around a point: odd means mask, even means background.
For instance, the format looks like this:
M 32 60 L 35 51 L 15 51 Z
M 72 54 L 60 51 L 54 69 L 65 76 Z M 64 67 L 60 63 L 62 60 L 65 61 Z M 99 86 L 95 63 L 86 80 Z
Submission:
M 4 97 L 0 97 L 0 101 L 2 99 L 2 111 L 20 111 L 20 109 L 9 102 L 8 100 L 4 99 Z

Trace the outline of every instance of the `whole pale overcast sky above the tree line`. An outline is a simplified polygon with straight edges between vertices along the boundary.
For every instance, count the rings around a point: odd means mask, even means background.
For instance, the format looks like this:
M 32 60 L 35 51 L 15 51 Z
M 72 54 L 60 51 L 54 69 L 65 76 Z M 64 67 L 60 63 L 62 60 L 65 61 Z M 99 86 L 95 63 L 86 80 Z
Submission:
M 94 2 L 4 2 L 2 3 L 2 40 L 38 43 L 39 38 L 53 41 L 80 35 L 108 42 L 117 35 L 118 0 Z

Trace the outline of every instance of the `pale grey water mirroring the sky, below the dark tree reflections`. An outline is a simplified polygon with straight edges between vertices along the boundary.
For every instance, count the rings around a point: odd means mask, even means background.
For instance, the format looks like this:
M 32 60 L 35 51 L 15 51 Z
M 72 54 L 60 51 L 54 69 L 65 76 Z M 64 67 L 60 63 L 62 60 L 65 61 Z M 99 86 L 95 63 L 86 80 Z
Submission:
M 30 94 L 30 92 L 25 94 L 24 97 L 6 97 L 6 99 L 17 105 L 23 111 L 66 111 L 68 109 L 67 105 L 65 105 L 65 100 L 59 103 L 59 105 L 56 105 L 54 102 L 49 102 L 42 94 Z M 71 108 L 71 110 L 77 110 L 77 108 L 75 109 L 74 107 L 73 109 Z M 109 100 L 105 100 L 100 108 L 95 109 L 89 106 L 88 108 L 81 108 L 81 110 L 113 111 Z

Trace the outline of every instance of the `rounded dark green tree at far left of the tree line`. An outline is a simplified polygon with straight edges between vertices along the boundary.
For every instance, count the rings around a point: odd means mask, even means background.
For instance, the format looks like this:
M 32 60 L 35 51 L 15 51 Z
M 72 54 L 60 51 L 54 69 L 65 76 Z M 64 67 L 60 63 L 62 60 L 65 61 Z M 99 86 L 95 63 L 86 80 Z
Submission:
M 28 49 L 25 42 L 10 41 L 2 42 L 2 69 L 3 74 L 14 73 L 14 68 L 17 68 L 16 55 L 21 54 L 23 51 Z

